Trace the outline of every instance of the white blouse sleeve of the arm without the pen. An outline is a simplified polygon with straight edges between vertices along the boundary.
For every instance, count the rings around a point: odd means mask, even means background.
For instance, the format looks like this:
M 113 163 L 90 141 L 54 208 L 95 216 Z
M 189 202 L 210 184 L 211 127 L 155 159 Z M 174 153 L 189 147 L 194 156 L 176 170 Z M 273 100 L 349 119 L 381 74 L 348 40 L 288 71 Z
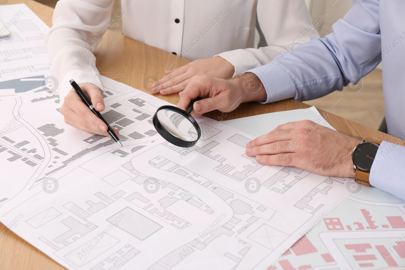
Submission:
M 258 0 L 257 18 L 268 46 L 218 54 L 234 65 L 233 76 L 268 64 L 281 53 L 309 41 L 312 36 L 319 37 L 313 29 L 305 0 Z

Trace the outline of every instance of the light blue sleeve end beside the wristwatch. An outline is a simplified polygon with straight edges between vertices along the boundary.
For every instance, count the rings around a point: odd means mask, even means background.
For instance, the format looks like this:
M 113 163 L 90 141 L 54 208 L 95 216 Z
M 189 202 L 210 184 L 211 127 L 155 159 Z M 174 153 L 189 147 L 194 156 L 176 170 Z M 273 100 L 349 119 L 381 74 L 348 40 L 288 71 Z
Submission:
M 405 147 L 382 142 L 370 171 L 370 184 L 405 200 Z

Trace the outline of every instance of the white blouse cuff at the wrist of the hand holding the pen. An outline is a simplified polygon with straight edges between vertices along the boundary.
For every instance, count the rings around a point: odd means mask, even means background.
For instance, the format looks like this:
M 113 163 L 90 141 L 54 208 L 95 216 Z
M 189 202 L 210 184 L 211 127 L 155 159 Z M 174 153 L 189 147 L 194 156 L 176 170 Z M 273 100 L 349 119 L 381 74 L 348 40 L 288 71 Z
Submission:
M 62 79 L 62 84 L 59 89 L 59 96 L 60 96 L 60 100 L 61 100 L 62 104 L 65 100 L 65 97 L 69 94 L 70 90 L 73 88 L 72 85 L 70 85 L 70 82 L 69 82 L 70 80 L 75 80 L 75 82 L 77 84 L 91 83 L 93 85 L 96 85 L 98 88 L 100 88 L 101 94 L 104 92 L 102 89 L 101 81 L 97 75 L 83 72 L 83 70 L 78 70 L 78 69 L 69 70 L 64 75 L 64 77 Z

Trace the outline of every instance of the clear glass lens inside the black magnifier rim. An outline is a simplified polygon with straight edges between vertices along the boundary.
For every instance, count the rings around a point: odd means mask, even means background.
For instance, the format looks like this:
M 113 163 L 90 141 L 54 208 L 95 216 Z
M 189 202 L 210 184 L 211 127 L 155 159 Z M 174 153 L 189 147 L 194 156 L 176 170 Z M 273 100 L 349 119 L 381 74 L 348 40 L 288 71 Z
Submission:
M 177 111 L 161 109 L 156 116 L 164 130 L 172 136 L 187 142 L 198 139 L 198 132 L 193 123 Z

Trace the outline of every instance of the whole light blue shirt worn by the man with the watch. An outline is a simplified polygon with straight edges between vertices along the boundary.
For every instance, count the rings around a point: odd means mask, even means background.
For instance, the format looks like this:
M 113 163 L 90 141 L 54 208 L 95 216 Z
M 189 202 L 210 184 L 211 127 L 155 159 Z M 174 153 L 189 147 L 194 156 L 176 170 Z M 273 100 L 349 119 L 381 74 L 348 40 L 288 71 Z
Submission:
M 405 1 L 354 0 L 353 8 L 332 29 L 332 34 L 313 37 L 269 64 L 248 71 L 266 88 L 263 103 L 286 98 L 311 100 L 341 91 L 382 61 L 388 133 L 404 139 Z M 370 183 L 405 200 L 405 147 L 382 142 Z

